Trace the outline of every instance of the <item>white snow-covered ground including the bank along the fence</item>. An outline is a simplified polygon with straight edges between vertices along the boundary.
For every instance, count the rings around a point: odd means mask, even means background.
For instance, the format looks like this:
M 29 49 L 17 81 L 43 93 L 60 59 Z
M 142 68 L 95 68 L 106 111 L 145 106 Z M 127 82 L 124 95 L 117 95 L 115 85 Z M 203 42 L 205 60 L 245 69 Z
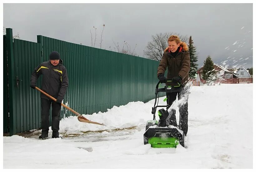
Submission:
M 154 100 L 130 102 L 84 115 L 107 127 L 69 117 L 60 122 L 63 139 L 38 140 L 40 131 L 3 137 L 3 168 L 253 168 L 253 84 L 193 86 L 190 92 L 186 149 L 144 145 Z

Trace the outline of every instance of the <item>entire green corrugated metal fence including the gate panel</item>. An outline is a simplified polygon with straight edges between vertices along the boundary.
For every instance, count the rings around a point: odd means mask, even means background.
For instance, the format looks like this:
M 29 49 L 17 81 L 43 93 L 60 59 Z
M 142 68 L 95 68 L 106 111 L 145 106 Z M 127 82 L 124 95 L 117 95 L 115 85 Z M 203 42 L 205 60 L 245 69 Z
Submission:
M 12 29 L 7 30 L 7 38 L 11 39 L 8 33 L 11 34 Z M 10 46 L 11 42 L 9 40 Z M 9 86 L 10 102 L 15 104 L 10 104 L 14 109 L 10 116 L 15 118 L 10 121 L 13 123 L 11 135 L 41 126 L 40 93 L 29 87 L 30 77 L 33 69 L 47 61 L 52 51 L 60 53 L 68 73 L 69 87 L 64 104 L 80 114 L 106 112 L 114 105 L 147 102 L 155 96 L 157 61 L 41 35 L 37 36 L 37 43 L 13 39 L 12 46 L 13 53 L 7 56 L 12 62 L 9 70 L 12 77 L 8 81 L 14 84 Z M 39 79 L 39 87 L 40 83 Z M 61 117 L 70 115 L 73 114 L 63 108 Z

